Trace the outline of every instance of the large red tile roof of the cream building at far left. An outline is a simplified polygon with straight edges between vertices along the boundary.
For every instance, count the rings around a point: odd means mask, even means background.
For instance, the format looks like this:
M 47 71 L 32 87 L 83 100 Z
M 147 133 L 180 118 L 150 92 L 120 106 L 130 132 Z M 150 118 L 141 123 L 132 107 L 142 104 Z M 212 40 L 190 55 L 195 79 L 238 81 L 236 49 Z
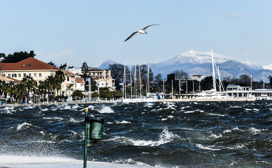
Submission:
M 35 58 L 29 57 L 17 63 L 0 63 L 0 69 L 3 71 L 14 70 L 62 70 L 58 67 L 54 67 L 48 63 L 39 61 Z

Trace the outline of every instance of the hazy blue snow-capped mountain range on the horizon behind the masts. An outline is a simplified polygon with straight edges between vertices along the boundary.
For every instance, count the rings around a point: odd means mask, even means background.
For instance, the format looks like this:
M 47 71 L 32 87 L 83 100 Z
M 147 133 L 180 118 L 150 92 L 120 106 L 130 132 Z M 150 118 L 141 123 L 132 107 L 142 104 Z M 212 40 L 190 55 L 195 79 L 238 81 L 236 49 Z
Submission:
M 232 57 L 226 57 L 222 54 L 213 53 L 214 61 L 219 67 L 221 77 L 236 78 L 240 74 L 252 75 L 254 81 L 263 81 L 269 83 L 267 77 L 272 76 L 272 71 L 268 68 L 264 69 L 260 64 L 254 62 L 239 62 Z M 110 59 L 104 61 L 99 68 L 107 69 L 108 65 L 116 63 Z M 184 52 L 174 58 L 159 63 L 146 63 L 152 69 L 154 75 L 162 74 L 163 78 L 167 77 L 174 70 L 183 70 L 193 75 L 212 76 L 212 58 L 211 52 L 197 52 L 190 50 Z M 133 66 L 133 65 L 131 65 Z M 107 68 L 102 68 L 107 67 Z M 128 67 L 130 67 L 128 65 Z

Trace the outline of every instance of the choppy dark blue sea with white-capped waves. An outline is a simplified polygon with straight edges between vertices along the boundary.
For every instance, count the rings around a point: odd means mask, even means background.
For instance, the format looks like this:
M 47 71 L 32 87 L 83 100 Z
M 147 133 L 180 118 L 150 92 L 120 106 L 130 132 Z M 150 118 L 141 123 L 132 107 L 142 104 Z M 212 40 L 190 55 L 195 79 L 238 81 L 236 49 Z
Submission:
M 83 160 L 85 107 L 105 119 L 89 161 L 272 167 L 272 101 L 2 106 L 0 155 Z

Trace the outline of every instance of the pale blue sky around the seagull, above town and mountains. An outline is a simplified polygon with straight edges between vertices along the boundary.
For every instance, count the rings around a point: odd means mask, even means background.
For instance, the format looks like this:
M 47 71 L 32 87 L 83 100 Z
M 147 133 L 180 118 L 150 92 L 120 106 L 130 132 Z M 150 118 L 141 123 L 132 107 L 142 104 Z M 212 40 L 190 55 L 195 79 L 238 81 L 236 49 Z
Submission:
M 272 0 L 0 1 L 0 50 L 55 64 L 157 63 L 195 50 L 272 63 Z M 150 24 L 148 34 L 130 34 Z

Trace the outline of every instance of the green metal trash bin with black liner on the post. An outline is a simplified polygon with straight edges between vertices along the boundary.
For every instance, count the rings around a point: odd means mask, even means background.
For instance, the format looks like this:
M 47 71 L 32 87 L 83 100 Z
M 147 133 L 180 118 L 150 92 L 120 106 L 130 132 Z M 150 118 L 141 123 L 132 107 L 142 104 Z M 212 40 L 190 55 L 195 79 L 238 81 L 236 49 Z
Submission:
M 88 122 L 87 138 L 92 141 L 103 139 L 104 118 L 102 117 L 86 117 Z

